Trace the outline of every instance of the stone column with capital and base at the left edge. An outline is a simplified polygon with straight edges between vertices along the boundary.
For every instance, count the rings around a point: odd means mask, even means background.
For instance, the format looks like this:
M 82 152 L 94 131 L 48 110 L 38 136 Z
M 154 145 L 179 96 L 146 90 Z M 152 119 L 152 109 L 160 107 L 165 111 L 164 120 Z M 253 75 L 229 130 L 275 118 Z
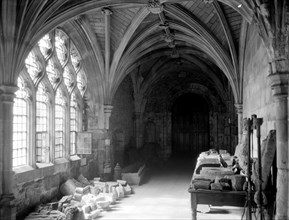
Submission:
M 1 104 L 2 104 L 2 196 L 0 199 L 0 219 L 16 219 L 16 207 L 14 204 L 13 186 L 14 172 L 12 170 L 13 154 L 13 101 L 16 86 L 1 86 Z

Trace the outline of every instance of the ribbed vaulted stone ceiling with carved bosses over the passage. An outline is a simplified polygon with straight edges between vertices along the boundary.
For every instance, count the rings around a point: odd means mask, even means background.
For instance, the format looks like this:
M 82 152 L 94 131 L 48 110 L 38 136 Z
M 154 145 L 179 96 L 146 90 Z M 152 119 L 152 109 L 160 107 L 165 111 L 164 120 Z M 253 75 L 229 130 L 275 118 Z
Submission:
M 27 2 L 18 13 L 30 26 L 19 35 L 33 46 L 53 28 L 76 27 L 95 56 L 104 102 L 129 74 L 143 95 L 165 88 L 172 97 L 198 84 L 223 100 L 229 87 L 242 100 L 244 33 L 253 19 L 247 0 Z

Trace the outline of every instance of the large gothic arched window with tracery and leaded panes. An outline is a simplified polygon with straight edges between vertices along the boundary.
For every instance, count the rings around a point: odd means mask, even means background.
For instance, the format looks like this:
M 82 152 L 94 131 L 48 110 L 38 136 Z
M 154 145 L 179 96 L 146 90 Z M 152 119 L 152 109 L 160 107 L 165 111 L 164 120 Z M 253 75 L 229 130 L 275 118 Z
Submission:
M 14 100 L 14 168 L 43 167 L 69 152 L 76 154 L 87 89 L 81 61 L 69 35 L 59 28 L 44 35 L 26 57 Z

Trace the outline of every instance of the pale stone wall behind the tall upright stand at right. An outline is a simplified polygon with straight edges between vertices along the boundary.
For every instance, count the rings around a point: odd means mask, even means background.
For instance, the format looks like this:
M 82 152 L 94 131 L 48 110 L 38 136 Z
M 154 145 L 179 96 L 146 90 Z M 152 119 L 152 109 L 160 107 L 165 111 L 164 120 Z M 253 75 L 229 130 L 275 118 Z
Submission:
M 265 139 L 269 131 L 275 129 L 275 106 L 268 83 L 269 64 L 266 49 L 254 26 L 250 26 L 247 34 L 247 45 L 244 62 L 243 81 L 243 115 L 251 117 L 256 114 L 263 118 L 261 139 Z

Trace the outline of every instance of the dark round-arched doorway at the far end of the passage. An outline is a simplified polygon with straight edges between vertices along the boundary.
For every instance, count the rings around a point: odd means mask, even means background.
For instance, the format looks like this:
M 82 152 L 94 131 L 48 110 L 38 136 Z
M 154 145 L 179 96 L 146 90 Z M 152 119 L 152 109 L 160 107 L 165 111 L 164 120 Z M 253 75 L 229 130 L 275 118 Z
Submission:
M 172 108 L 172 156 L 197 156 L 209 149 L 209 107 L 196 94 L 179 97 Z

